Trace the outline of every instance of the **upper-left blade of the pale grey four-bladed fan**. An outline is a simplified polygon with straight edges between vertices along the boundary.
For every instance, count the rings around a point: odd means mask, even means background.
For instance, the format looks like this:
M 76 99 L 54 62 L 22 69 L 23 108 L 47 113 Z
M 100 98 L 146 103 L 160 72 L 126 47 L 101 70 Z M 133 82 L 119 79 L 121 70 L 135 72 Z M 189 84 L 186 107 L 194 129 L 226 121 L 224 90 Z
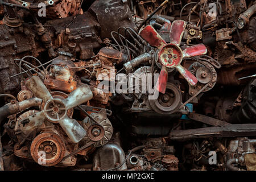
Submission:
M 38 76 L 32 76 L 27 80 L 25 85 L 32 93 L 34 93 L 35 97 L 42 98 L 45 102 L 53 99 L 51 93 L 49 93 L 46 88 L 46 85 L 44 85 L 43 81 Z

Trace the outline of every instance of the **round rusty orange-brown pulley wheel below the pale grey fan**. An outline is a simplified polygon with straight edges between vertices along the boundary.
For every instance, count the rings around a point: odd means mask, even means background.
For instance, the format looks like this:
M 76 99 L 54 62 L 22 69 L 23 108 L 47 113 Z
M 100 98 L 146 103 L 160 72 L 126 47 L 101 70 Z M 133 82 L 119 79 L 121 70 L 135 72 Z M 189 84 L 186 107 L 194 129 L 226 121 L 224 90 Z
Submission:
M 65 143 L 55 133 L 42 133 L 32 141 L 30 154 L 41 166 L 55 166 L 64 158 Z

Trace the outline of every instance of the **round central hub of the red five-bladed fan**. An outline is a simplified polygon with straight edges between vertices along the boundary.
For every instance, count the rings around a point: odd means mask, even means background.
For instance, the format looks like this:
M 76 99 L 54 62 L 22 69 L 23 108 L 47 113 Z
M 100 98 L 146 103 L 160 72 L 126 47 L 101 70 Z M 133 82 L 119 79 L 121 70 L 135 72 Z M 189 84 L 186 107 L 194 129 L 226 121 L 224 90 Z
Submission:
M 183 59 L 183 53 L 179 46 L 167 44 L 158 53 L 159 62 L 166 68 L 175 68 Z

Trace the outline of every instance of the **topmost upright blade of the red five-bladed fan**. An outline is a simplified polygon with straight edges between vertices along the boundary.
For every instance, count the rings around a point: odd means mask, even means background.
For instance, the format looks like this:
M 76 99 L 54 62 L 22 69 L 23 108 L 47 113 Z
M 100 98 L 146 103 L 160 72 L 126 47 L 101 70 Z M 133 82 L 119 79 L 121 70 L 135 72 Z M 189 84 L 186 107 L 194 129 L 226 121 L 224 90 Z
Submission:
M 183 37 L 186 26 L 187 23 L 183 20 L 175 20 L 174 22 L 172 22 L 170 31 L 171 44 L 180 46 L 180 42 Z

